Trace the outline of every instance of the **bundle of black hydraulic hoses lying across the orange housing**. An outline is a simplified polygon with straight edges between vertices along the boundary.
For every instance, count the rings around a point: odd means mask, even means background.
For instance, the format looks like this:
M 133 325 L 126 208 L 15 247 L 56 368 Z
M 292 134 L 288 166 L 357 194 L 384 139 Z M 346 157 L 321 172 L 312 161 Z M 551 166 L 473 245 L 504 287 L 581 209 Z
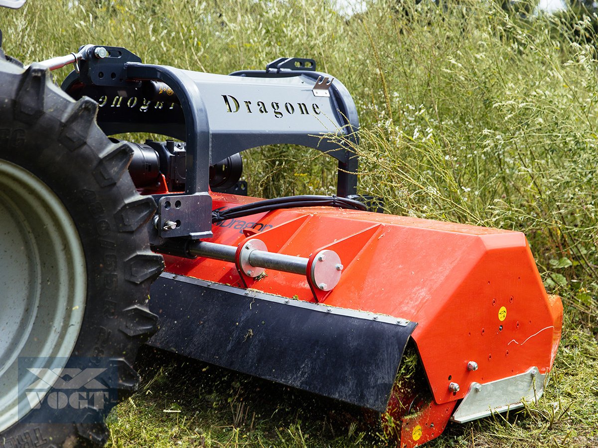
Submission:
M 300 208 L 300 207 L 337 207 L 349 208 L 350 210 L 367 210 L 364 204 L 359 201 L 332 196 L 300 195 L 285 198 L 266 199 L 252 202 L 251 204 L 239 205 L 228 208 L 228 210 L 213 210 L 212 223 L 225 221 L 227 219 L 249 216 L 251 214 L 266 213 L 278 208 Z

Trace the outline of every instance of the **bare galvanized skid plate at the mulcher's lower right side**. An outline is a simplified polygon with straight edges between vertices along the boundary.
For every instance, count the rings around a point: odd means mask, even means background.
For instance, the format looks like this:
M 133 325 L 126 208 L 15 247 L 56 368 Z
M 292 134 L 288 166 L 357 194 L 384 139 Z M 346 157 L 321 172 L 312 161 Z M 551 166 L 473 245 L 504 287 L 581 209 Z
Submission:
M 486 384 L 472 383 L 451 420 L 465 423 L 492 413 L 505 412 L 523 406 L 525 401 L 537 401 L 544 393 L 545 374 L 536 367 L 520 375 L 509 376 Z

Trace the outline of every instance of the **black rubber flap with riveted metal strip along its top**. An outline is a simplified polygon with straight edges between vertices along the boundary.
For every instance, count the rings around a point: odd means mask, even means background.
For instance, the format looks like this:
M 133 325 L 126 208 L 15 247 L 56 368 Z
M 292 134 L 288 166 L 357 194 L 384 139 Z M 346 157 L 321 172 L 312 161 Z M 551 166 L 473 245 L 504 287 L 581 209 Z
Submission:
M 164 273 L 149 345 L 384 412 L 416 323 Z

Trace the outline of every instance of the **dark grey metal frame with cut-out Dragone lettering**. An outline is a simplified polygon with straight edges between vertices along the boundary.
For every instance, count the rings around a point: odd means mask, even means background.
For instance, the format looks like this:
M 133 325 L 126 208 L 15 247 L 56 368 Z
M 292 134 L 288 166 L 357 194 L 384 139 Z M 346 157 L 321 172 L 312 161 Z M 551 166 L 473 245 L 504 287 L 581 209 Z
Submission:
M 187 143 L 184 194 L 155 197 L 160 237 L 212 235 L 207 167 L 240 151 L 274 143 L 318 149 L 338 160 L 337 194 L 356 194 L 358 115 L 341 82 L 315 71 L 311 59 L 280 58 L 266 70 L 231 75 L 146 65 L 125 48 L 83 60 L 62 88 L 99 104 L 97 122 L 108 134 L 160 133 Z M 93 52 L 93 49 L 91 50 Z M 166 201 L 181 201 L 166 208 Z M 168 232 L 167 220 L 182 223 Z

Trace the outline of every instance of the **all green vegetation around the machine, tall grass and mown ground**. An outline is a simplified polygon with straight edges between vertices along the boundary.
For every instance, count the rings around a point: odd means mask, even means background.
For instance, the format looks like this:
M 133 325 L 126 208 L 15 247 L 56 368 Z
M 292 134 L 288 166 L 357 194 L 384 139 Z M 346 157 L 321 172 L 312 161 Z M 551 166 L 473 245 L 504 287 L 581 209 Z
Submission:
M 86 43 L 216 73 L 314 57 L 356 100 L 361 192 L 385 197 L 395 214 L 523 231 L 548 291 L 563 297 L 562 345 L 545 397 L 522 412 L 451 424 L 429 446 L 591 447 L 598 61 L 591 42 L 571 31 L 589 35 L 591 20 L 565 19 L 523 20 L 499 3 L 459 0 L 371 2 L 350 20 L 316 0 L 31 0 L 2 11 L 0 29 L 5 51 L 26 63 Z M 334 162 L 287 149 L 249 151 L 252 194 L 334 190 Z M 359 410 L 194 361 L 147 357 L 142 390 L 111 415 L 111 446 L 385 444 Z

